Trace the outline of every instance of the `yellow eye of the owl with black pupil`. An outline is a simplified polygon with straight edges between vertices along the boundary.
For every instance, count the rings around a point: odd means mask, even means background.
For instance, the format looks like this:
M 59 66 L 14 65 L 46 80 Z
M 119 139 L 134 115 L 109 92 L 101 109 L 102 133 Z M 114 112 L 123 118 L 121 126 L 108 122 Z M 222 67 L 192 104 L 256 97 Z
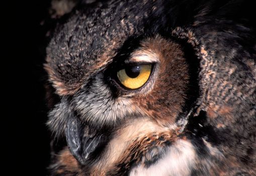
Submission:
M 148 80 L 151 64 L 127 66 L 117 72 L 120 82 L 129 89 L 138 89 Z

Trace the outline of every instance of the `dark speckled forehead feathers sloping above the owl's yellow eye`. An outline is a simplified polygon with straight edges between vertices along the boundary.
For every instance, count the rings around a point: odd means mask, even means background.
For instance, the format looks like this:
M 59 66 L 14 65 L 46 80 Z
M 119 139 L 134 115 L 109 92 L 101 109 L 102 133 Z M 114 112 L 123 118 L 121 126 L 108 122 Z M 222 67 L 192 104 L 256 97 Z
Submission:
M 131 7 L 117 2 L 106 8 L 80 7 L 56 30 L 47 47 L 45 69 L 59 95 L 75 93 L 89 75 L 112 61 L 125 41 L 145 31 L 145 18 L 155 10 L 155 5 L 147 3 L 149 7 L 142 8 L 142 2 L 136 4 Z

